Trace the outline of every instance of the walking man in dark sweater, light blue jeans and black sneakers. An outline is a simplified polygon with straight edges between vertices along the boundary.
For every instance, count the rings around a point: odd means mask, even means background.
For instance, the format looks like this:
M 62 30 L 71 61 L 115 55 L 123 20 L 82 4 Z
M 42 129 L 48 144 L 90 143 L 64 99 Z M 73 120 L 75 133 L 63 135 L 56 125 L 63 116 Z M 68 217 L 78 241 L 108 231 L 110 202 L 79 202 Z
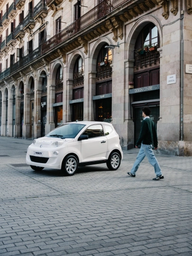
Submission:
M 149 163 L 154 166 L 156 177 L 153 179 L 154 181 L 159 181 L 161 179 L 164 179 L 164 175 L 161 173 L 161 168 L 159 166 L 159 163 L 156 160 L 156 157 L 152 150 L 152 141 L 154 142 L 155 150 L 158 148 L 158 141 L 157 141 L 157 134 L 156 134 L 156 128 L 154 122 L 150 119 L 149 115 L 151 113 L 151 110 L 148 107 L 145 107 L 142 109 L 142 116 L 144 117 L 142 121 L 141 126 L 141 132 L 139 135 L 139 138 L 136 142 L 136 147 L 140 143 L 141 148 L 139 150 L 139 153 L 137 155 L 137 159 L 130 171 L 128 172 L 128 175 L 131 177 L 136 176 L 136 172 L 138 170 L 138 167 L 145 158 L 147 157 Z

